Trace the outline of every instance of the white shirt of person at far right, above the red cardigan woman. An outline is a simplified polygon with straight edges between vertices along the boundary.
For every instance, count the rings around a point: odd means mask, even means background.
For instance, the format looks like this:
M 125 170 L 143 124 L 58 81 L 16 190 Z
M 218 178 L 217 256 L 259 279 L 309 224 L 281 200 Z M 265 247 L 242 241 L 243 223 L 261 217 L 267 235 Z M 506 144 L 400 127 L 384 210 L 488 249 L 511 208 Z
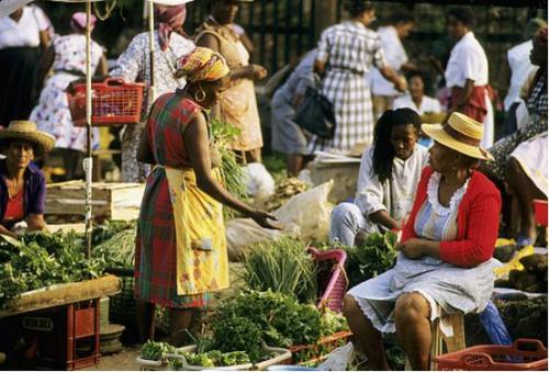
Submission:
M 509 110 L 513 102 L 520 98 L 520 88 L 523 88 L 526 78 L 535 69 L 530 61 L 531 41 L 515 45 L 507 50 L 507 61 L 511 69 L 511 82 L 507 95 L 505 95 L 505 111 Z

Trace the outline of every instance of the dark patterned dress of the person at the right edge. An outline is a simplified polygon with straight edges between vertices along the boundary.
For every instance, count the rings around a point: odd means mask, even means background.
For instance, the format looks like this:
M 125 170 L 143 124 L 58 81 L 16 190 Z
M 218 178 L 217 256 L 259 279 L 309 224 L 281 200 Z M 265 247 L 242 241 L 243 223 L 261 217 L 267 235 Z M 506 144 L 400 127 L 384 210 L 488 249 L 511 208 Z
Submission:
M 530 122 L 498 142 L 489 149 L 494 156 L 494 161 L 486 162 L 486 167 L 500 181 L 505 180 L 505 165 L 511 153 L 522 143 L 547 131 L 547 71 L 539 76 L 530 97 L 526 101 L 530 113 Z

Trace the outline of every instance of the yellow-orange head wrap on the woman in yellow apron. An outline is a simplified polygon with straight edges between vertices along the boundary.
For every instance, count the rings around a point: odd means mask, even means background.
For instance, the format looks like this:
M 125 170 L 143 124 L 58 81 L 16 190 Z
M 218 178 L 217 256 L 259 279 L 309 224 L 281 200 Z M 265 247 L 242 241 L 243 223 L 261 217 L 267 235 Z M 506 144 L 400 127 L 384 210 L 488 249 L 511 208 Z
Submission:
M 228 71 L 227 63 L 221 54 L 199 46 L 178 60 L 176 76 L 184 77 L 189 82 L 215 81 Z

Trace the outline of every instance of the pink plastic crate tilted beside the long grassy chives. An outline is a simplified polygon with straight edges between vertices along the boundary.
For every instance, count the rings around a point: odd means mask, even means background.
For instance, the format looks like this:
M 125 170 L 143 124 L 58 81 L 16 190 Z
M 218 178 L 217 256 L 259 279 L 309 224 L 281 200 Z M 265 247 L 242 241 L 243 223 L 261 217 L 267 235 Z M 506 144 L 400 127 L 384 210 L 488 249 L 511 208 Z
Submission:
M 328 307 L 330 311 L 340 313 L 343 311 L 343 300 L 349 285 L 345 272 L 347 253 L 341 249 L 320 251 L 313 247 L 307 248 L 307 251 L 316 262 L 328 261 L 332 263 L 327 269 L 321 269 L 317 274 L 318 288 L 324 289 L 320 295 L 317 307 L 320 309 Z

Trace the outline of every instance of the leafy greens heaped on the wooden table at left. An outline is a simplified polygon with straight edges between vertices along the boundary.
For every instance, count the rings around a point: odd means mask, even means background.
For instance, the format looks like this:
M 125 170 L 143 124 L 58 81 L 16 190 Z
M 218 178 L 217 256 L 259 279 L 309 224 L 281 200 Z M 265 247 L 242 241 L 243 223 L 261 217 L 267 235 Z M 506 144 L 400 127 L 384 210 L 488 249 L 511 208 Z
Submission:
M 0 309 L 40 288 L 99 278 L 101 258 L 86 259 L 85 239 L 76 234 L 31 233 L 21 239 L 0 236 Z

